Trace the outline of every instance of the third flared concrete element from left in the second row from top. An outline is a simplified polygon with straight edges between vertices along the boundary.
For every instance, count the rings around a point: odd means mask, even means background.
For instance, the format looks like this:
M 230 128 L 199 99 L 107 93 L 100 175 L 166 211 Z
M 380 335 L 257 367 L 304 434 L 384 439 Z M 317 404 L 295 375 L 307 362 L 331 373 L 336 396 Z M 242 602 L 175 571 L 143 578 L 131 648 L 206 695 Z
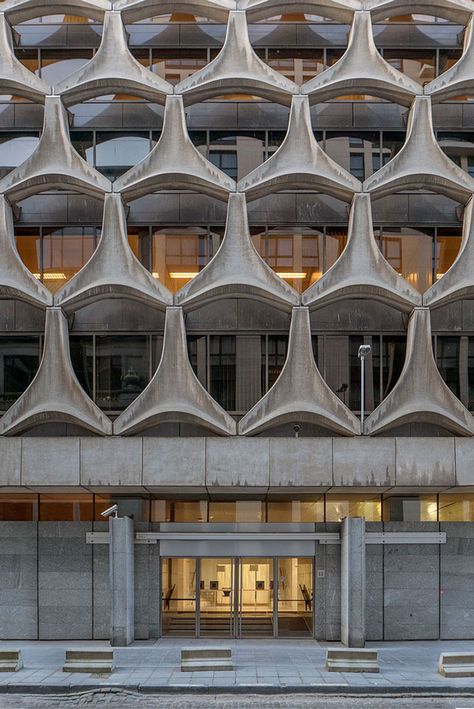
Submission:
M 288 131 L 278 150 L 238 183 L 247 200 L 283 189 L 313 189 L 350 202 L 358 179 L 322 150 L 314 137 L 307 96 L 294 96 Z

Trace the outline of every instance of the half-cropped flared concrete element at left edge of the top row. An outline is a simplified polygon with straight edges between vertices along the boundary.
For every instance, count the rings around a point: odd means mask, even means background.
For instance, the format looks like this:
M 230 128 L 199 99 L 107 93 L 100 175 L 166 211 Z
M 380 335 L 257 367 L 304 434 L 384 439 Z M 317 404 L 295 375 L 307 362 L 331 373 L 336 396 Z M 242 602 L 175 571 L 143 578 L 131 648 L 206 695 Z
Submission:
M 44 103 L 50 87 L 16 58 L 10 25 L 0 12 L 0 93 L 23 96 Z

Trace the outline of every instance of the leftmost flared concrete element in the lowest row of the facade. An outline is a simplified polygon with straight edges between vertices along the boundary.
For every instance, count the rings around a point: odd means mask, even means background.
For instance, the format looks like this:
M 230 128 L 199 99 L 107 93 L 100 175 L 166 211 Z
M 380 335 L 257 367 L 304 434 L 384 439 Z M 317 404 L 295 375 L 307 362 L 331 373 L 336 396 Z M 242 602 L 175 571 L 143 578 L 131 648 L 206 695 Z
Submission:
M 4 435 L 50 422 L 112 433 L 111 421 L 87 396 L 74 373 L 67 320 L 61 308 L 46 310 L 43 356 L 36 376 L 0 421 Z

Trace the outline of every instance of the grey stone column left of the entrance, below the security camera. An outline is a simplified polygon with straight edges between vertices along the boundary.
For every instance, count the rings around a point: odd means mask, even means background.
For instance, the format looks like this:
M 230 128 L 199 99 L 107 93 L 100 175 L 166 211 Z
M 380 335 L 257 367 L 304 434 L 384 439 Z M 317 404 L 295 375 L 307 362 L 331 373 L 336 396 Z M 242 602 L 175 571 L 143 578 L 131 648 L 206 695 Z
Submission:
M 109 517 L 111 619 L 110 644 L 130 645 L 135 639 L 134 526 L 130 517 Z

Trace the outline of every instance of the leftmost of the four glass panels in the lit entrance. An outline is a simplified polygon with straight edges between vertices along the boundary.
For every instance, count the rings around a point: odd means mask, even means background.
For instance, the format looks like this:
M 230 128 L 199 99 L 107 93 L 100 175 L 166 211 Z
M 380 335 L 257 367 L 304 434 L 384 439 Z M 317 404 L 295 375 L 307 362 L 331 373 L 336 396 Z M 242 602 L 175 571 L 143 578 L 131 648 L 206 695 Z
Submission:
M 196 559 L 162 559 L 163 635 L 196 635 Z

